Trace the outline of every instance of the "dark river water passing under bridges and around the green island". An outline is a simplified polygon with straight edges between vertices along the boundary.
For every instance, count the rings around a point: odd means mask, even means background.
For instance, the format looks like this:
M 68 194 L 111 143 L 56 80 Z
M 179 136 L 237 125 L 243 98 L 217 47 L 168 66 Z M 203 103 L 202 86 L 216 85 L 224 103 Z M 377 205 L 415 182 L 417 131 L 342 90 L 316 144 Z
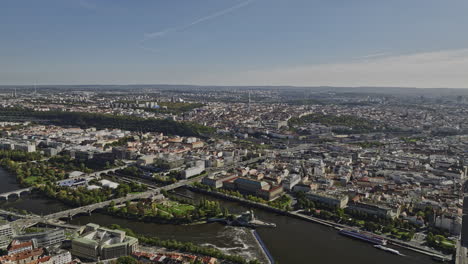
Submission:
M 0 169 L 0 192 L 19 189 L 14 177 Z M 177 190 L 185 197 L 202 197 L 220 201 L 223 207 L 233 213 L 240 213 L 250 208 L 235 202 L 219 200 L 188 190 Z M 67 208 L 58 201 L 43 197 L 24 196 L 20 199 L 0 202 L 0 207 L 15 207 L 36 214 L 48 214 Z M 437 263 L 430 257 L 398 248 L 405 256 L 392 255 L 377 250 L 372 245 L 352 240 L 339 235 L 336 230 L 299 219 L 276 215 L 263 210 L 254 210 L 255 215 L 264 221 L 276 223 L 276 228 L 259 228 L 265 245 L 276 261 L 281 264 L 431 264 Z M 192 241 L 197 244 L 213 246 L 228 253 L 245 257 L 258 256 L 257 247 L 248 229 L 226 227 L 220 224 L 202 224 L 191 226 L 162 225 L 141 223 L 110 217 L 101 213 L 91 216 L 79 216 L 71 220 L 73 224 L 97 223 L 101 225 L 119 224 L 133 229 L 137 233 L 158 236 L 163 239 Z

